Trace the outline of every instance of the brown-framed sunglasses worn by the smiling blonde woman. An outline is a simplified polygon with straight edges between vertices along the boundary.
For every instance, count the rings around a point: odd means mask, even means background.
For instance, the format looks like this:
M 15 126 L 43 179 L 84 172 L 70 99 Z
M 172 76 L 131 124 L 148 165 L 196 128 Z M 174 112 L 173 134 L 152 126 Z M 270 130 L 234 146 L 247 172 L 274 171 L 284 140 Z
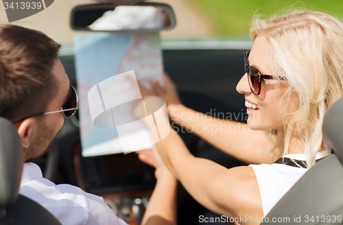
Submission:
M 244 55 L 244 69 L 248 73 L 248 82 L 250 90 L 254 95 L 259 95 L 261 93 L 261 82 L 262 80 L 274 80 L 274 75 L 262 74 L 255 67 L 250 66 L 248 56 L 250 51 L 246 52 Z M 278 80 L 287 80 L 286 78 L 278 78 Z

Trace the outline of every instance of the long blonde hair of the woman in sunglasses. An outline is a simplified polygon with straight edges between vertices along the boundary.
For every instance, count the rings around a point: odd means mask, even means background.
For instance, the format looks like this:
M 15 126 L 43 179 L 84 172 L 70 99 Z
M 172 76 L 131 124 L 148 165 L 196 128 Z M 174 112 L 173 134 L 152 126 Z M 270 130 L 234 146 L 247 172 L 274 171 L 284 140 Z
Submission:
M 266 40 L 273 75 L 287 78 L 282 102 L 295 104 L 296 111 L 283 107 L 285 136 L 275 147 L 288 154 L 294 134 L 305 145 L 307 165 L 316 163 L 315 154 L 324 150 L 324 114 L 343 96 L 343 24 L 329 14 L 294 11 L 283 16 L 252 22 L 250 38 Z M 282 152 L 282 150 L 281 150 Z

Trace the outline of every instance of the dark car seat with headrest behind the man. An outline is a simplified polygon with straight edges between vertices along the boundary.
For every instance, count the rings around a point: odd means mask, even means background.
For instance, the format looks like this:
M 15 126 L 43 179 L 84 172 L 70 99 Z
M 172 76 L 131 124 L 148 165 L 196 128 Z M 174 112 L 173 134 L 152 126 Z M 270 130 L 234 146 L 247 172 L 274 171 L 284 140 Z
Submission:
M 0 225 L 60 225 L 40 204 L 19 195 L 23 148 L 16 128 L 0 117 Z

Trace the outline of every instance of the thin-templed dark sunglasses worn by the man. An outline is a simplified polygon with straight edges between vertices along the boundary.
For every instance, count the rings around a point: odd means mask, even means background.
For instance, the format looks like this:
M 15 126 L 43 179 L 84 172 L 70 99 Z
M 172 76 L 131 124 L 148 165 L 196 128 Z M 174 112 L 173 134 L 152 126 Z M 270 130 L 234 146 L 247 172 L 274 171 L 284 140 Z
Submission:
M 36 113 L 34 115 L 25 117 L 23 119 L 19 119 L 19 120 L 15 121 L 14 123 L 18 123 L 20 121 L 23 121 L 23 120 L 29 118 L 29 117 L 47 115 L 47 114 L 56 113 L 56 112 L 63 112 L 66 117 L 71 117 L 72 115 L 74 115 L 76 110 L 78 110 L 78 102 L 79 102 L 78 93 L 76 93 L 76 90 L 73 86 L 70 86 L 69 97 L 68 97 L 67 101 L 63 104 L 62 110 Z

